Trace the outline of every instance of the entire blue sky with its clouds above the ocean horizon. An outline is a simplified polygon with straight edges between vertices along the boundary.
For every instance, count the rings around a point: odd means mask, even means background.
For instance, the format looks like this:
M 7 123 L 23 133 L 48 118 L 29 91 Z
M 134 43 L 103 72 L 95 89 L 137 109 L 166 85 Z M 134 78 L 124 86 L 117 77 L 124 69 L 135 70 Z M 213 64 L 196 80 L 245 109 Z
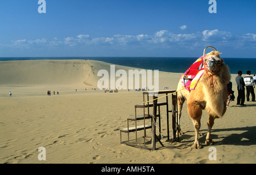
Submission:
M 0 1 L 0 57 L 256 58 L 256 1 Z

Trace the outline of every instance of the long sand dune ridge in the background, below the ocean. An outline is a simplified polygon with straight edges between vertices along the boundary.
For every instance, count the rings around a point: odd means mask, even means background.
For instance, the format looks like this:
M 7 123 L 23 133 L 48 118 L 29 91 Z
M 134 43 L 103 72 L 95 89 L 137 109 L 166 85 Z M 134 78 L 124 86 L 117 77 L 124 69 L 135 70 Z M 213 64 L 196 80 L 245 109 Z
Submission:
M 93 88 L 97 87 L 97 82 L 101 78 L 97 76 L 100 70 L 109 72 L 110 88 L 110 63 L 92 60 L 30 60 L 30 61 L 3 61 L 0 62 L 0 86 L 63 86 L 68 88 Z M 114 73 L 118 70 L 125 70 L 127 77 L 129 70 L 141 70 L 134 67 L 114 65 Z M 180 74 L 170 74 L 159 72 L 159 87 L 172 86 L 169 82 L 164 82 L 167 76 Z M 115 76 L 115 74 L 114 74 Z M 154 76 L 154 72 L 152 73 Z M 141 82 L 140 76 L 140 82 Z M 117 80 L 119 76 L 115 76 Z M 132 77 L 133 78 L 133 77 Z M 127 79 L 127 87 L 129 86 Z M 135 80 L 135 78 L 133 78 Z M 154 84 L 154 77 L 152 78 Z M 135 83 L 134 83 L 135 85 Z M 176 86 L 176 85 L 175 85 Z M 175 88 L 175 86 L 172 86 Z M 140 85 L 142 88 L 142 84 Z M 118 88 L 118 87 L 116 87 Z M 135 87 L 133 86 L 133 89 Z

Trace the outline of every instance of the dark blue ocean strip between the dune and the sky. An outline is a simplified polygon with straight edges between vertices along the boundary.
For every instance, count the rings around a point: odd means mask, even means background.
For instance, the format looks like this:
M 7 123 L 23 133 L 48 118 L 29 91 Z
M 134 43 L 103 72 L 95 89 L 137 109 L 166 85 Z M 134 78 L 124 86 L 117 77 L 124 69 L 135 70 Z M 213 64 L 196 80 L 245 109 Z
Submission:
M 159 70 L 166 72 L 185 72 L 197 58 L 184 57 L 2 57 L 0 61 L 35 60 L 35 59 L 92 59 L 104 61 L 114 65 L 137 67 L 146 70 Z M 256 74 L 256 58 L 223 58 L 229 66 L 231 74 L 238 70 L 246 74 Z

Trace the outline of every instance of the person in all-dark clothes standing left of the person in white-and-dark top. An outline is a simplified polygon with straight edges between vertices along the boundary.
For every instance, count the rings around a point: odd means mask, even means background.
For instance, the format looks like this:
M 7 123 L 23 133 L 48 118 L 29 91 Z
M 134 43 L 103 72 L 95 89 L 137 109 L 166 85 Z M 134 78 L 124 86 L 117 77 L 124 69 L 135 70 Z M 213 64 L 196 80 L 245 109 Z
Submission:
M 238 96 L 237 96 L 237 105 L 242 105 L 245 106 L 245 82 L 243 81 L 242 78 L 242 71 L 238 71 L 236 77 L 236 83 L 237 83 L 237 91 L 238 91 Z

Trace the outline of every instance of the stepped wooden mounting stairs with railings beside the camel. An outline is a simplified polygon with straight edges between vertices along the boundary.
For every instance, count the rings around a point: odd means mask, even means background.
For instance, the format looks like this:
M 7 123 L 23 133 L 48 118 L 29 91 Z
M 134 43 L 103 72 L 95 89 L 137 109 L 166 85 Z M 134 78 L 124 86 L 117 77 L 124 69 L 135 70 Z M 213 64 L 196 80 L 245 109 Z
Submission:
M 161 91 L 160 91 L 161 92 Z M 164 91 L 164 93 L 171 93 L 175 91 Z M 162 92 L 163 93 L 163 92 Z M 147 95 L 147 101 L 149 101 L 148 95 L 150 92 L 143 92 L 143 101 L 145 101 L 145 95 Z M 176 97 L 176 96 L 175 96 Z M 174 101 L 174 95 L 172 95 L 172 103 L 176 103 Z M 163 143 L 160 141 L 161 138 L 161 116 L 160 116 L 160 106 L 166 105 L 167 107 L 167 133 L 168 133 L 168 139 L 169 137 L 169 117 L 168 113 L 172 113 L 172 122 L 174 122 L 174 117 L 176 118 L 176 107 L 175 109 L 169 110 L 168 109 L 168 97 L 166 96 L 166 102 L 164 103 L 158 103 L 158 99 L 153 96 L 152 103 L 146 103 L 146 104 L 137 104 L 134 106 L 135 108 L 135 116 L 127 118 L 127 128 L 120 130 L 120 140 L 121 144 L 127 144 L 129 146 L 134 147 L 141 147 L 141 148 L 147 148 L 150 150 L 155 150 L 155 143 L 156 140 L 163 146 Z M 174 108 L 174 105 L 172 105 L 172 108 Z M 143 115 L 137 115 L 137 110 L 143 109 Z M 152 109 L 152 113 L 150 114 L 150 109 Z M 175 114 L 175 116 L 174 116 Z M 156 123 L 158 125 L 159 129 L 159 137 L 156 136 Z M 174 126 L 174 125 L 173 125 Z M 147 137 L 146 131 L 150 129 L 151 135 L 150 137 Z M 174 127 L 173 127 L 174 129 Z M 143 131 L 142 137 L 139 138 L 138 142 L 138 133 Z M 127 140 L 122 140 L 122 133 L 127 133 Z M 135 139 L 131 136 L 131 133 L 135 133 Z M 174 133 L 174 131 L 173 131 Z M 173 134 L 174 135 L 174 134 Z M 143 139 L 141 139 L 143 138 Z M 146 138 L 150 138 L 151 144 L 148 143 L 149 140 Z M 143 142 L 142 142 L 143 141 Z M 150 144 L 150 146 L 148 145 Z

